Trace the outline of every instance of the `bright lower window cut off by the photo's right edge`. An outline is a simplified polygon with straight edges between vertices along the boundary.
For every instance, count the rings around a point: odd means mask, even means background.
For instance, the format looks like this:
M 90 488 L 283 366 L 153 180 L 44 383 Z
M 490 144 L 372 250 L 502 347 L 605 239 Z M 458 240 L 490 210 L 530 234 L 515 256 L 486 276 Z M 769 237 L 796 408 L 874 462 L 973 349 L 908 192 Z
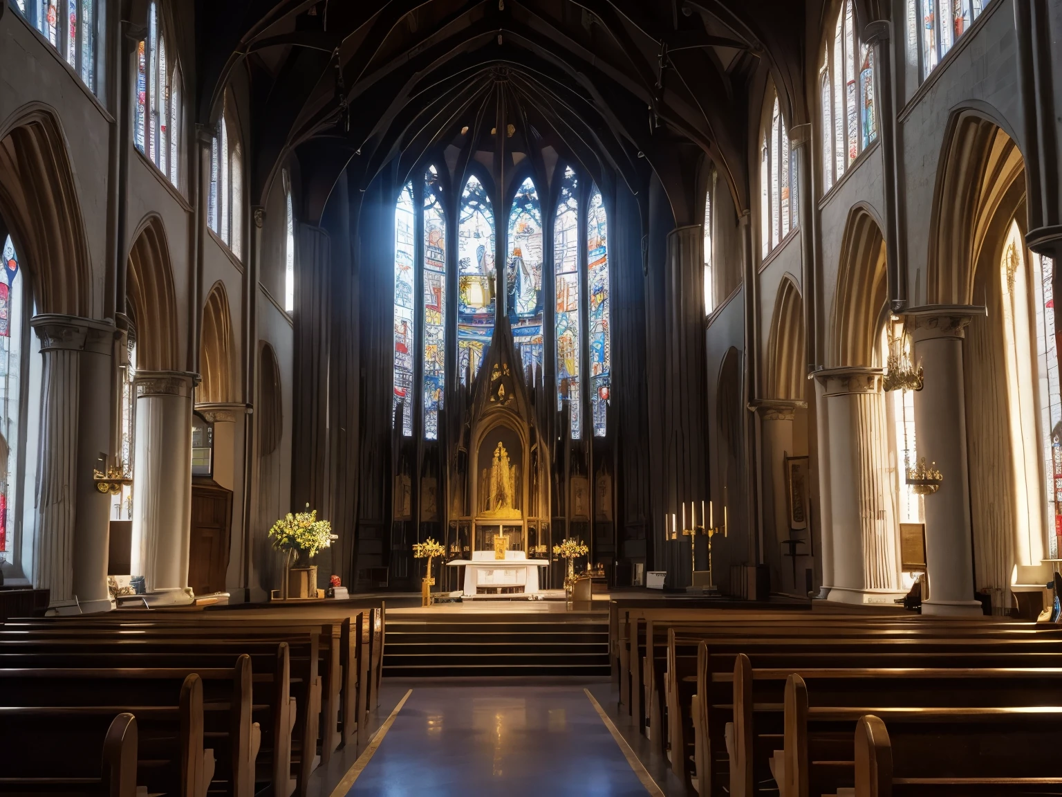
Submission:
M 1058 337 L 1055 334 L 1054 260 L 1032 255 L 1035 308 L 1037 372 L 1040 398 L 1040 450 L 1047 499 L 1050 558 L 1059 558 L 1062 538 L 1062 392 L 1059 388 Z

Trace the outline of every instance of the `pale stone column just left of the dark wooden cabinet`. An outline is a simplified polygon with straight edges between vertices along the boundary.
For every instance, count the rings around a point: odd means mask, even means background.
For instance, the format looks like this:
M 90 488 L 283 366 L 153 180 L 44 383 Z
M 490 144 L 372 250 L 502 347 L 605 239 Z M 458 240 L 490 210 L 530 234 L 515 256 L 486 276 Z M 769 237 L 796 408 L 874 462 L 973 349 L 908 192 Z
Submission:
M 137 371 L 133 570 L 148 603 L 188 604 L 192 389 L 198 374 Z

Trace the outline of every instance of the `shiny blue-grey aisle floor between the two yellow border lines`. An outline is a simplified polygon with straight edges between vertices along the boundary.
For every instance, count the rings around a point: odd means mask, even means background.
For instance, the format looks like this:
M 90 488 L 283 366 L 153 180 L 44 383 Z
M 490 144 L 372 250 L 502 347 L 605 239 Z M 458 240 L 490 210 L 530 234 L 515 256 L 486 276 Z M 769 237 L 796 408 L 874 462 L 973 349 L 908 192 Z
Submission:
M 582 686 L 462 684 L 411 690 L 347 794 L 660 792 L 639 781 Z

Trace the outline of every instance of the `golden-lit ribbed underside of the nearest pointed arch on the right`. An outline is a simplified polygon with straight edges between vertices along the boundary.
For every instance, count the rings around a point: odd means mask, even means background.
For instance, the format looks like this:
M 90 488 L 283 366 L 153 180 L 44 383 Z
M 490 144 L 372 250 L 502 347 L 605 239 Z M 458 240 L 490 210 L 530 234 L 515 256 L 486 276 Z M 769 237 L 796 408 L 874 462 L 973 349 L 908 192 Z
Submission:
M 1005 230 L 994 230 L 1025 197 L 1025 162 L 981 111 L 956 112 L 944 137 L 929 226 L 926 304 L 970 304 L 978 264 L 998 260 Z M 994 247 L 986 251 L 986 243 Z

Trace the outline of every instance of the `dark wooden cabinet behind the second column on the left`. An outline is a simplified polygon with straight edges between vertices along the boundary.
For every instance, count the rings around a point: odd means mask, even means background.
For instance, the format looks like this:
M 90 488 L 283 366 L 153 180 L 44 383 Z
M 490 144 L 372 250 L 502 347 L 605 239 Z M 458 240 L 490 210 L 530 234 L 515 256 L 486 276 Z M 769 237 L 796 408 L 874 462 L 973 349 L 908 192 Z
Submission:
M 209 477 L 194 477 L 188 586 L 196 595 L 225 590 L 232 528 L 233 491 Z

